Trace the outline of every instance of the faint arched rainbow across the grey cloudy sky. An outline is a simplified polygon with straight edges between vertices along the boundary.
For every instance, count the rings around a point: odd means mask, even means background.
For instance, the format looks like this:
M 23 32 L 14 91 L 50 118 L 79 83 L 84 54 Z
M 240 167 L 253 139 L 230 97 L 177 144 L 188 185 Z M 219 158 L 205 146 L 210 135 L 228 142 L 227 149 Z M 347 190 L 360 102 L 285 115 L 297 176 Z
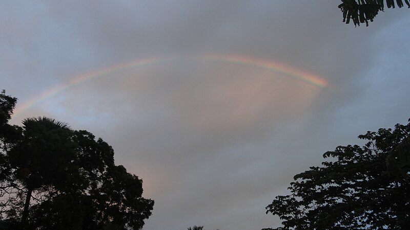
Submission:
M 249 56 L 240 56 L 240 55 L 203 55 L 203 56 L 189 56 L 189 57 L 154 57 L 154 58 L 144 58 L 137 59 L 126 63 L 120 63 L 112 65 L 101 70 L 89 72 L 83 75 L 75 76 L 71 78 L 68 82 L 64 84 L 57 85 L 51 89 L 44 91 L 42 94 L 34 96 L 30 100 L 24 102 L 23 104 L 17 106 L 14 110 L 13 117 L 22 114 L 27 109 L 33 107 L 39 102 L 45 100 L 46 98 L 52 97 L 61 91 L 64 91 L 75 85 L 90 81 L 92 79 L 107 76 L 109 74 L 126 70 L 127 68 L 135 68 L 146 65 L 154 65 L 163 62 L 175 62 L 181 60 L 198 60 L 206 62 L 216 62 L 216 63 L 231 63 L 237 65 L 250 66 L 254 68 L 261 68 L 263 70 L 268 70 L 275 73 L 280 73 L 285 76 L 292 77 L 296 80 L 306 82 L 312 85 L 315 85 L 320 88 L 326 88 L 329 86 L 327 81 L 317 75 L 303 72 L 297 68 L 290 67 L 279 62 L 274 62 L 271 60 L 258 59 Z

